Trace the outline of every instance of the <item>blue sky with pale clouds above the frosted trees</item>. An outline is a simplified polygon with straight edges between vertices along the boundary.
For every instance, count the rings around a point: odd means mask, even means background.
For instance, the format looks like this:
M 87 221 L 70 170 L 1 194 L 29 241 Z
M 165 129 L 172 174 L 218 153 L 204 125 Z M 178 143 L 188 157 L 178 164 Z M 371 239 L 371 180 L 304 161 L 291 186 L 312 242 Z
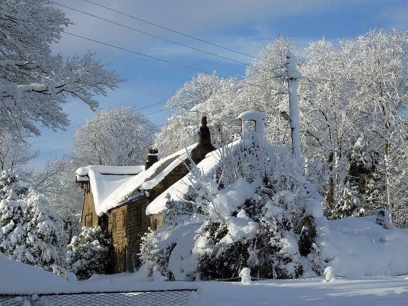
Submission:
M 250 63 L 251 58 L 229 52 L 172 32 L 154 27 L 130 17 L 87 3 L 84 0 L 54 0 L 56 3 L 84 11 L 140 31 L 148 32 L 226 58 Z M 328 40 L 352 38 L 373 28 L 408 29 L 408 1 L 406 0 L 92 0 L 100 5 L 157 23 L 194 37 L 198 37 L 239 52 L 257 56 L 262 45 L 277 35 L 292 37 L 300 48 L 325 36 Z M 74 22 L 66 31 L 133 50 L 149 56 L 180 63 L 221 75 L 240 77 L 245 65 L 213 57 L 180 45 L 172 44 L 89 15 L 58 5 Z M 165 101 L 189 81 L 197 71 L 177 67 L 157 60 L 140 57 L 112 47 L 63 34 L 54 52 L 65 56 L 83 55 L 87 50 L 97 53 L 108 68 L 115 70 L 127 82 L 108 97 L 97 97 L 101 109 L 114 105 L 143 108 L 144 114 L 161 111 Z M 64 106 L 71 125 L 85 122 L 94 114 L 78 99 L 70 99 Z M 157 125 L 165 122 L 169 111 L 147 117 Z M 39 168 L 49 158 L 61 157 L 71 143 L 74 128 L 66 132 L 43 131 L 30 140 L 40 155 L 30 166 Z M 60 137 L 60 138 L 59 138 Z M 58 139 L 55 139 L 58 138 Z M 54 140 L 53 140 L 54 139 Z M 62 149 L 62 150 L 60 150 Z M 59 150 L 55 152 L 50 152 Z M 50 152 L 50 153 L 47 153 Z

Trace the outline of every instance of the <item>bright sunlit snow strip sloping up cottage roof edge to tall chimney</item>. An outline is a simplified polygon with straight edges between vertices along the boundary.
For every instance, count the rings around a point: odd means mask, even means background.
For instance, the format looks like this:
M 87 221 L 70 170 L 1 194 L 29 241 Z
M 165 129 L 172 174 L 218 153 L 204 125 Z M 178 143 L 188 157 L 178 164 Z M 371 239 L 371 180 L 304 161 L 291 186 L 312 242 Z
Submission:
M 167 167 L 165 167 L 162 171 L 160 171 L 157 175 L 151 178 L 148 182 L 150 184 L 147 185 L 146 189 L 154 188 L 157 184 L 159 184 L 164 177 L 173 170 L 177 165 L 179 165 L 182 160 L 181 158 L 186 155 L 185 159 L 187 159 L 187 152 L 188 154 L 196 148 L 198 143 L 188 146 L 187 148 L 183 148 L 159 161 L 154 163 L 149 169 L 141 171 L 139 174 L 127 179 L 116 188 L 115 191 L 111 192 L 109 196 L 107 196 L 103 201 L 96 202 L 94 196 L 94 204 L 95 204 L 95 211 L 98 216 L 102 216 L 104 213 L 107 213 L 108 210 L 113 209 L 129 200 L 129 196 L 135 191 L 142 187 L 142 184 L 148 180 L 152 175 L 155 174 L 156 170 L 166 161 L 170 159 L 175 160 L 170 163 Z M 180 158 L 177 158 L 180 157 Z M 169 170 L 171 168 L 171 170 Z M 167 173 L 165 175 L 161 175 L 162 172 Z M 156 179 L 157 178 L 157 179 Z M 91 185 L 92 186 L 92 185 Z

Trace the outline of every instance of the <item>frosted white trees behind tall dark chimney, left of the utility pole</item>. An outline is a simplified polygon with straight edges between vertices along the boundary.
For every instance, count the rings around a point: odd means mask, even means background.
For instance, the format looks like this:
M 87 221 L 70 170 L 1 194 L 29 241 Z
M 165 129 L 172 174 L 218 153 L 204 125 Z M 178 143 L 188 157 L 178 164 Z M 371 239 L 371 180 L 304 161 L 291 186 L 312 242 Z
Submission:
M 288 48 L 294 47 L 284 37 L 262 47 L 259 60 L 247 67 L 242 82 L 197 74 L 167 101 L 166 106 L 174 110 L 174 115 L 158 134 L 155 147 L 168 155 L 196 142 L 201 116 L 207 116 L 213 143 L 229 143 L 240 132 L 237 116 L 253 109 L 268 115 L 267 139 L 282 141 L 287 121 L 280 114 L 288 111 L 289 103 L 283 94 L 287 84 L 276 74 L 282 72 L 280 65 L 286 60 Z

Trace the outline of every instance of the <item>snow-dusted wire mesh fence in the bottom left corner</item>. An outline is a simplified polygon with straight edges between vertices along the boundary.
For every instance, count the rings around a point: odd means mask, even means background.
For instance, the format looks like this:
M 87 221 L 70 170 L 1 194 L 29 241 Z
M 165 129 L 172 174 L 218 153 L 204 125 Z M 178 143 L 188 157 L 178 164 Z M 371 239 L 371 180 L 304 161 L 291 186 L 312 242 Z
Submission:
M 196 289 L 132 292 L 60 293 L 33 296 L 0 295 L 1 306 L 143 305 L 189 306 L 198 302 Z

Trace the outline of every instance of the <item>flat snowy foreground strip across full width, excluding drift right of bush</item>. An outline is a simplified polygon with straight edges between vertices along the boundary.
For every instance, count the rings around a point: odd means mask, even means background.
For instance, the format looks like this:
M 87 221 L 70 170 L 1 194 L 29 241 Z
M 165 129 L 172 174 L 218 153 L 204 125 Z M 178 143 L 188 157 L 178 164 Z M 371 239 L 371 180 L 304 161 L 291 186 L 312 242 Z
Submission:
M 261 281 L 250 285 L 222 282 L 140 282 L 135 274 L 94 276 L 70 284 L 31 266 L 0 257 L 2 293 L 32 294 L 116 290 L 198 289 L 198 306 L 207 305 L 407 305 L 408 277 L 348 277 L 324 282 L 323 277 L 292 281 Z

